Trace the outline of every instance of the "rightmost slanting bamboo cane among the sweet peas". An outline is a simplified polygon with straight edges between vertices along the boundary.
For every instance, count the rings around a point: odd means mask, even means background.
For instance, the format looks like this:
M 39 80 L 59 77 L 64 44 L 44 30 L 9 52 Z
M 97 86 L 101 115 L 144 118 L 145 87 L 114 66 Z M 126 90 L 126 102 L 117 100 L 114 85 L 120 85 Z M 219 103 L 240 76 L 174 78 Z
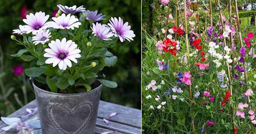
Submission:
M 240 22 L 239 22 L 239 14 L 238 14 L 238 8 L 237 8 L 237 0 L 235 0 L 235 8 L 236 8 L 236 17 L 237 17 L 237 31 L 238 31 L 238 35 L 239 35 L 239 41 L 240 41 L 240 47 L 243 47 L 243 40 L 242 40 L 242 34 L 241 34 L 241 27 L 240 27 Z M 248 88 L 248 80 L 247 80 L 247 72 L 246 72 L 246 65 L 245 62 L 243 63 L 243 67 L 244 67 L 244 79 L 245 79 L 245 89 L 247 90 Z

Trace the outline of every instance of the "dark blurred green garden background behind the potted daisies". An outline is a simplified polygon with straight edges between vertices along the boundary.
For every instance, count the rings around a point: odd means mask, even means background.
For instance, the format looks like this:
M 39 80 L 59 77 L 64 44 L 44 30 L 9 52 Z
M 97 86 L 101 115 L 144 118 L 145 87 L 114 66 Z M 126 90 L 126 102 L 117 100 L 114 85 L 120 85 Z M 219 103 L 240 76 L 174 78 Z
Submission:
M 0 0 L 0 116 L 7 116 L 35 99 L 29 78 L 24 74 L 16 76 L 13 73 L 15 66 L 26 68 L 29 63 L 10 56 L 20 49 L 10 36 L 18 25 L 25 25 L 20 16 L 21 9 L 27 7 L 28 13 L 44 11 L 51 16 L 58 9 L 57 4 L 84 5 L 87 10 L 98 10 L 106 18 L 100 23 L 108 23 L 110 17 L 122 17 L 131 25 L 136 34 L 134 41 L 119 42 L 113 46 L 110 51 L 118 56 L 118 62 L 116 66 L 103 70 L 106 79 L 116 81 L 118 87 L 104 88 L 101 100 L 141 108 L 140 0 Z

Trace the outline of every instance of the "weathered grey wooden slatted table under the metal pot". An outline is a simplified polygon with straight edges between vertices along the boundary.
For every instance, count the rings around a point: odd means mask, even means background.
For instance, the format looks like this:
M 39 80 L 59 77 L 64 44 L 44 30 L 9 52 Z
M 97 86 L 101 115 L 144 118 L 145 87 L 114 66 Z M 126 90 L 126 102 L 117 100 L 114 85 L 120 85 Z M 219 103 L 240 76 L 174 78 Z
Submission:
M 20 115 L 26 114 L 26 108 L 35 107 L 37 107 L 36 100 L 23 106 L 8 117 L 20 118 Z M 109 118 L 109 114 L 113 112 L 117 112 L 118 114 Z M 38 116 L 37 112 L 34 115 L 22 118 L 21 121 L 24 122 L 33 119 L 36 116 Z M 104 123 L 103 118 L 109 120 L 109 125 Z M 0 121 L 0 134 L 17 134 L 17 132 L 15 133 L 14 131 L 6 132 L 1 129 L 6 126 L 7 125 L 3 123 L 3 121 Z M 100 101 L 95 133 L 101 134 L 106 131 L 117 131 L 115 134 L 141 134 L 141 110 Z M 41 130 L 38 130 L 37 132 L 37 134 L 42 134 Z

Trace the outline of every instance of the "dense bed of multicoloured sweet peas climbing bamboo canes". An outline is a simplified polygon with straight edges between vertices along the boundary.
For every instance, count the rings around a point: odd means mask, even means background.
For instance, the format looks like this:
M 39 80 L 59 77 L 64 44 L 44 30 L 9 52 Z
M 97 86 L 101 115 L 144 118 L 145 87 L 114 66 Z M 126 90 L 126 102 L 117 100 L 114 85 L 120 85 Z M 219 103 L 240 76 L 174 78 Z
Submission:
M 159 15 L 156 34 L 143 29 L 145 132 L 256 132 L 255 28 L 241 26 L 237 2 L 151 4 Z

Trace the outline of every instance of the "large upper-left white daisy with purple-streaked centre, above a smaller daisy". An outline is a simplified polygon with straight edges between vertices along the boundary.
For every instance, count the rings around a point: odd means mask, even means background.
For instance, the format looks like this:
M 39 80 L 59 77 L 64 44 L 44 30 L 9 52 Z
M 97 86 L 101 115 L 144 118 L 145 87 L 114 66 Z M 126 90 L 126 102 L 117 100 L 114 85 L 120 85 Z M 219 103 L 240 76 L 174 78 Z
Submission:
M 49 15 L 45 15 L 44 12 L 36 12 L 35 15 L 30 13 L 26 15 L 26 19 L 23 19 L 23 22 L 28 28 L 27 34 L 32 32 L 32 34 L 36 34 L 39 29 L 47 29 L 49 26 L 49 22 L 46 22 L 49 19 Z

